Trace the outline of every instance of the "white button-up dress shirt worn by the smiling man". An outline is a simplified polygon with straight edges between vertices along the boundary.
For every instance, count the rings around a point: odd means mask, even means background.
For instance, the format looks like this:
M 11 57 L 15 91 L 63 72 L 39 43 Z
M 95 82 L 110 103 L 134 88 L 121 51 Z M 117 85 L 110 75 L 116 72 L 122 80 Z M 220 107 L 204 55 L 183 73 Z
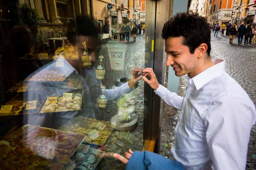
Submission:
M 181 110 L 171 152 L 186 169 L 245 169 L 254 103 L 225 72 L 225 61 L 192 79 L 184 97 L 159 85 L 155 93 Z M 171 168 L 170 168 L 171 169 Z

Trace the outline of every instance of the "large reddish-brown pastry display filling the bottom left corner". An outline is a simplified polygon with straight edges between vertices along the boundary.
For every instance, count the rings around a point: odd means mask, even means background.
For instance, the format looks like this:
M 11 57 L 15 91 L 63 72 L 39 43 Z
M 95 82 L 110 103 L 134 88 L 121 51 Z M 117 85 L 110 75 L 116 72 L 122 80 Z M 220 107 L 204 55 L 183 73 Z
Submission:
M 84 135 L 25 125 L 1 141 L 10 145 L 4 149 L 0 145 L 1 168 L 62 169 L 84 138 Z

